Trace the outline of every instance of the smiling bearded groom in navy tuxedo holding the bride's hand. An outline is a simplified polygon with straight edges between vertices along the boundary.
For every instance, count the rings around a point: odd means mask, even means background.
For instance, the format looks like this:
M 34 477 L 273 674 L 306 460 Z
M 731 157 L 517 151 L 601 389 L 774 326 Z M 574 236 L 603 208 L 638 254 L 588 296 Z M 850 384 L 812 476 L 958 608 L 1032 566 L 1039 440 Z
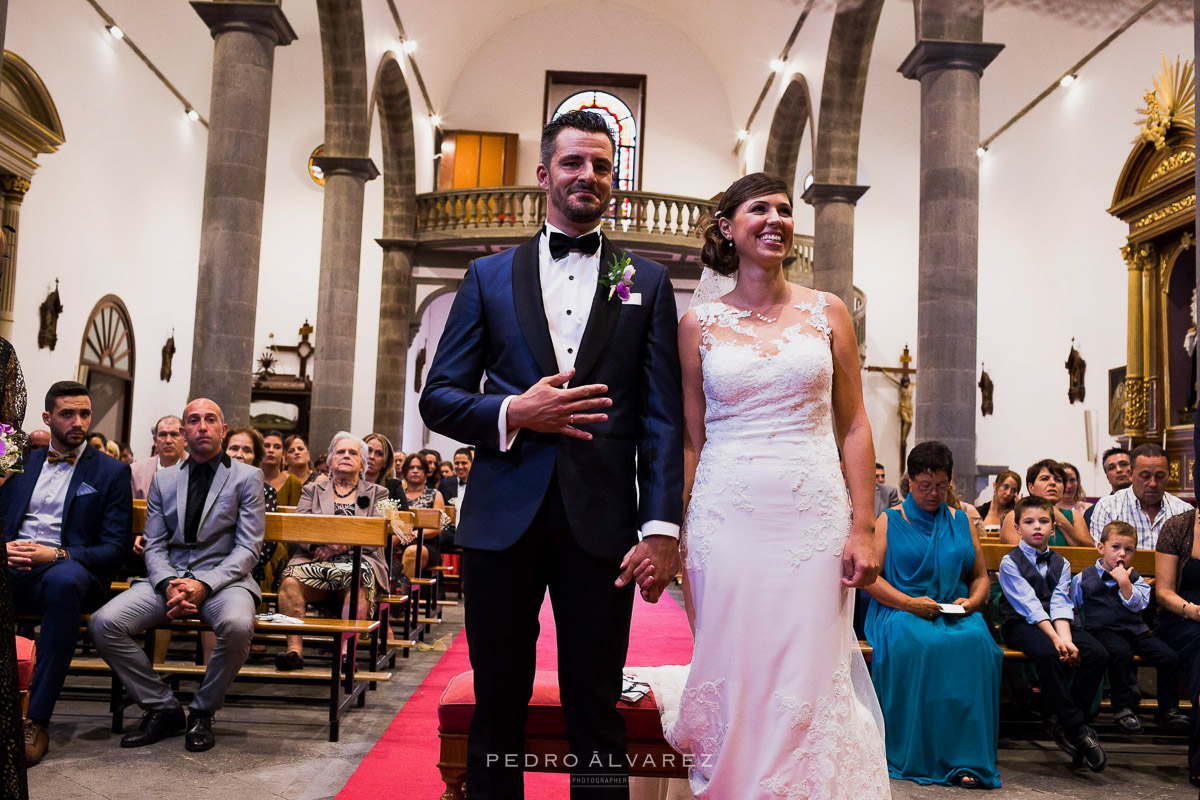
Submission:
M 596 114 L 546 125 L 546 227 L 467 269 L 421 396 L 431 429 L 476 447 L 455 537 L 475 670 L 472 800 L 523 796 L 547 588 L 571 796 L 629 796 L 616 705 L 632 584 L 654 602 L 678 571 L 683 407 L 666 269 L 630 257 L 628 293 L 605 285 L 629 257 L 600 233 L 614 152 Z

